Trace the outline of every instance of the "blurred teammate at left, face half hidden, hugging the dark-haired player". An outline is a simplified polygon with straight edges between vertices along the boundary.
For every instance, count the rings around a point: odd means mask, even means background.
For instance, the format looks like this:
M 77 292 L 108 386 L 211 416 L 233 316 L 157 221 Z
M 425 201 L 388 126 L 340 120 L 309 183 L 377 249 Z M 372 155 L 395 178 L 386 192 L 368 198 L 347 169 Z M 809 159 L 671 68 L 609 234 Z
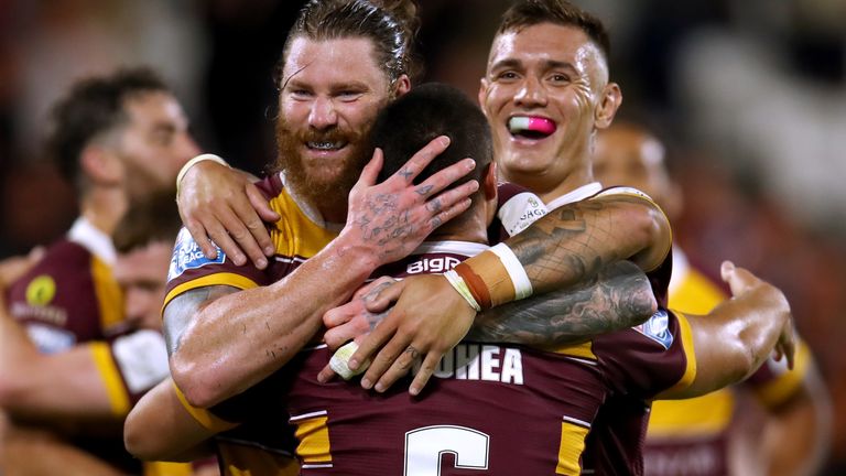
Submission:
M 115 435 L 120 434 L 127 407 L 169 376 L 161 334 L 161 301 L 173 239 L 180 227 L 172 191 L 158 192 L 134 203 L 117 225 L 113 274 L 122 290 L 128 328 L 113 340 L 89 342 L 43 354 L 2 306 L 0 408 L 13 422 L 25 423 L 24 429 L 13 428 L 4 441 L 10 474 L 123 474 L 73 444 L 87 447 L 113 442 Z M 20 270 L 31 268 L 37 260 L 17 261 L 3 263 L 3 281 L 21 274 Z M 2 289 L 4 295 L 6 288 Z M 75 463 L 86 459 L 85 466 Z M 148 476 L 193 473 L 189 465 L 144 466 Z M 215 473 L 203 474 L 216 474 L 214 462 L 205 466 Z

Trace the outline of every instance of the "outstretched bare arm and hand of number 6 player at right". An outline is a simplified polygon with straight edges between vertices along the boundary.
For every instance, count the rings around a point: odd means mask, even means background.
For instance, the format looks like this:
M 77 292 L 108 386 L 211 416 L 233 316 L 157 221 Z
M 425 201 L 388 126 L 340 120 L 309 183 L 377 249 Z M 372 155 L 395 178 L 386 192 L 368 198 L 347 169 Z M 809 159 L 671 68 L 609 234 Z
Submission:
M 688 315 L 696 376 L 657 399 L 698 397 L 749 377 L 777 350 L 793 359 L 793 318 L 782 292 L 734 264 L 723 264 L 734 298 L 704 316 Z M 791 364 L 792 365 L 792 364 Z

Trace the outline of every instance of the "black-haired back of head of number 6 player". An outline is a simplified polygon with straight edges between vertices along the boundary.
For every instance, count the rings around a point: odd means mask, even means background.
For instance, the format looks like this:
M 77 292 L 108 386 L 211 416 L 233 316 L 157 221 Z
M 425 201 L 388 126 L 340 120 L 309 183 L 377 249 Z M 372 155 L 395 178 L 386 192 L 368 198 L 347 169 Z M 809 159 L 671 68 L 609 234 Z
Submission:
M 494 156 L 488 121 L 476 102 L 463 91 L 438 83 L 412 89 L 388 105 L 377 117 L 371 142 L 384 153 L 379 182 L 393 175 L 415 152 L 438 136 L 448 136 L 449 147 L 417 175 L 414 183 L 471 158 L 476 161 L 476 169 L 455 185 L 469 180 L 481 184 Z

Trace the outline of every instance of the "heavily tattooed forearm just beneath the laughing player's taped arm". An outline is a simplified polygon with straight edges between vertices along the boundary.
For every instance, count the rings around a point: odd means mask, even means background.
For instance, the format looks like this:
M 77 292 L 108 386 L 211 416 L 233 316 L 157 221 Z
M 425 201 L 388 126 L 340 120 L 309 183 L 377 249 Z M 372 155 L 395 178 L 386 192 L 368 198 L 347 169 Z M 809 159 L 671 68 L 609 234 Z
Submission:
M 549 348 L 638 325 L 655 312 L 646 274 L 629 261 L 600 269 L 587 282 L 485 311 L 467 339 Z

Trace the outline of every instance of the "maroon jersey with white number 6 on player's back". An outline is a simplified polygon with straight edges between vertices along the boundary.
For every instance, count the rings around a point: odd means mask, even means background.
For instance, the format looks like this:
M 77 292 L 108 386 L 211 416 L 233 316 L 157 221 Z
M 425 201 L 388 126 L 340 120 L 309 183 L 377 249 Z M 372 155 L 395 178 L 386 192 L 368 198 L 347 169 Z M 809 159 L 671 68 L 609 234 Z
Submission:
M 392 269 L 398 277 L 435 272 L 481 249 L 457 241 L 424 244 Z M 669 340 L 681 340 L 682 324 L 660 313 L 650 325 L 654 328 L 587 344 L 598 355 L 606 344 L 626 346 L 608 354 L 609 360 L 582 353 L 583 346 L 556 354 L 464 342 L 445 356 L 420 398 L 406 393 L 408 381 L 386 394 L 343 381 L 318 383 L 316 375 L 330 353 L 317 346 L 239 404 L 215 411 L 254 424 L 268 421 L 269 407 L 284 404 L 297 429 L 304 475 L 579 474 L 585 439 L 601 405 L 623 387 L 654 391 L 684 374 L 683 359 L 653 357 L 668 351 Z M 661 325 L 665 333 L 658 332 Z M 683 351 L 679 345 L 674 350 Z M 651 359 L 653 371 L 628 376 L 616 358 Z M 267 433 L 253 436 L 257 445 L 272 447 L 262 440 Z

